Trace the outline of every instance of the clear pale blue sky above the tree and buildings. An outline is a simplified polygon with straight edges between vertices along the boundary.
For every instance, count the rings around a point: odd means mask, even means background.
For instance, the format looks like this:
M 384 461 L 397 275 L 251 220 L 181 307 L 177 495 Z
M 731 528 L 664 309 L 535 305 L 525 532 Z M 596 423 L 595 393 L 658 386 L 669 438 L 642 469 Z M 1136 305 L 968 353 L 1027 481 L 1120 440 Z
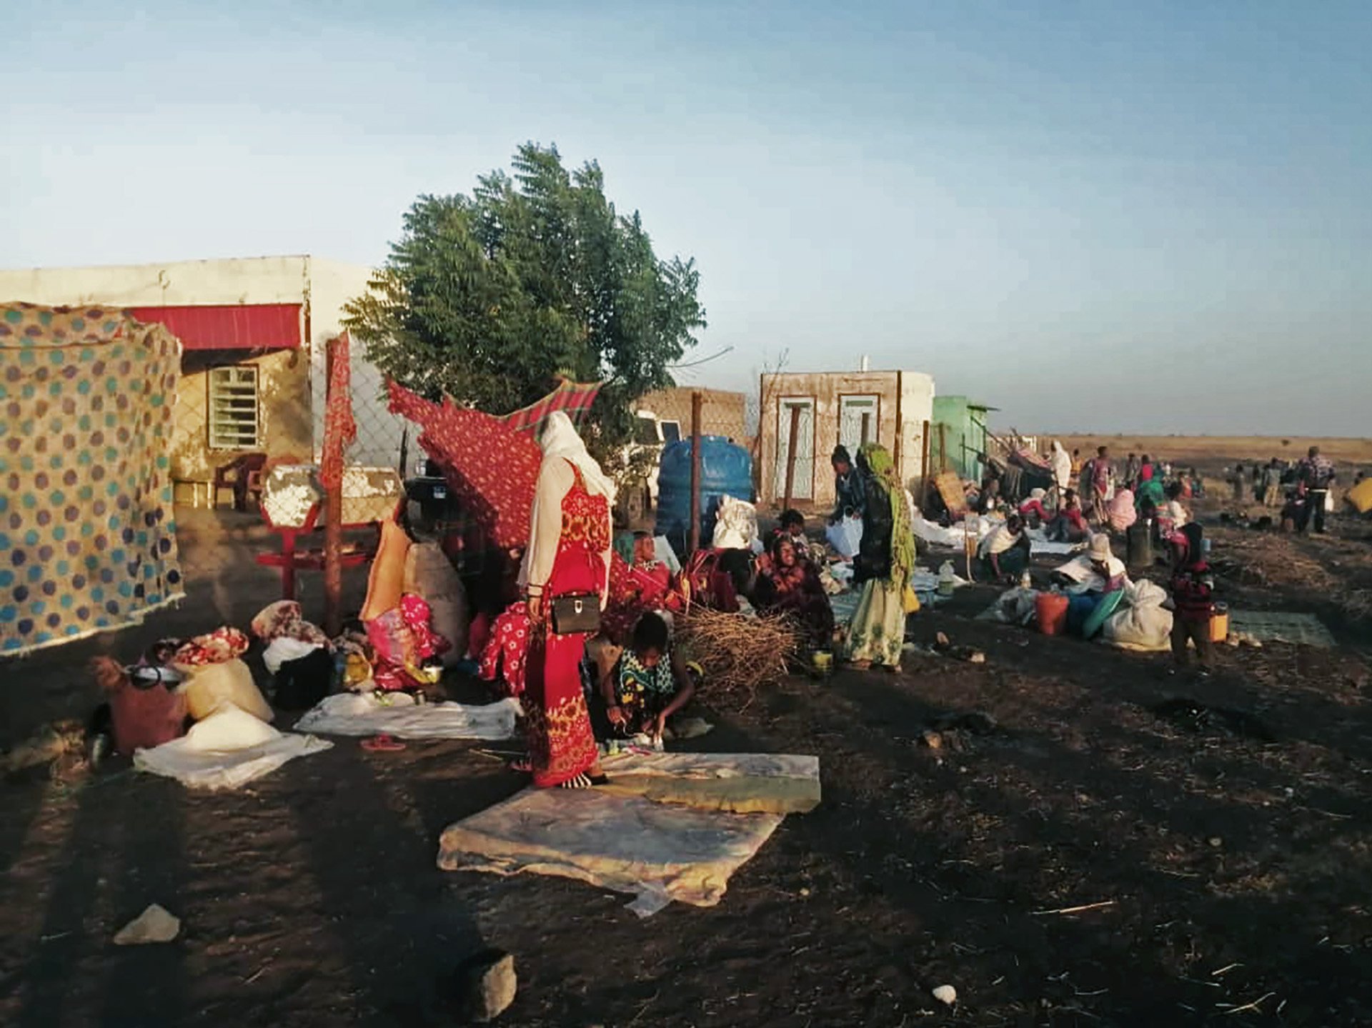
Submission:
M 0 266 L 376 265 L 525 140 L 709 325 L 1021 431 L 1368 435 L 1372 4 L 8 0 Z

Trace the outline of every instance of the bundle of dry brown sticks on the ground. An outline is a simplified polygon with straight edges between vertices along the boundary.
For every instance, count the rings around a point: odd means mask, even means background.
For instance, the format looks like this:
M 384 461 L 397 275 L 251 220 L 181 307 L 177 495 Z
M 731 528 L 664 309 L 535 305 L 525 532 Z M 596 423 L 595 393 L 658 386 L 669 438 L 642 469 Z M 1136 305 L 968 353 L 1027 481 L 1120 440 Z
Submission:
M 705 673 L 712 697 L 752 703 L 757 689 L 786 675 L 800 652 L 801 633 L 790 618 L 744 618 L 691 607 L 676 620 L 676 638 L 689 659 Z

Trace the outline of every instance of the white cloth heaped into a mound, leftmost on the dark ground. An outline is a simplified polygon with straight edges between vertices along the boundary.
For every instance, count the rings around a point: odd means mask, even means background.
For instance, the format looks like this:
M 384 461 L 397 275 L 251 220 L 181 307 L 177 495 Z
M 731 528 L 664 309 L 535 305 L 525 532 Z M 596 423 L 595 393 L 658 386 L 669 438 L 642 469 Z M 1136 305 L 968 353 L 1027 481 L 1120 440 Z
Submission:
M 181 738 L 139 749 L 140 771 L 176 778 L 192 789 L 237 789 L 274 771 L 287 760 L 332 747 L 313 736 L 277 732 L 237 707 L 222 705 Z

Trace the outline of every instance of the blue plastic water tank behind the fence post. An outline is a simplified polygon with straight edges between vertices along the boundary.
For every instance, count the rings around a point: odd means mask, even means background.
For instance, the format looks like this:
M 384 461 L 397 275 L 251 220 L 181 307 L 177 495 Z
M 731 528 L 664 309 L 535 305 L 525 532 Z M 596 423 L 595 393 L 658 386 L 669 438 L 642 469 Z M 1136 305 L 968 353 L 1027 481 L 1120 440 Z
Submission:
M 657 465 L 657 534 L 665 535 L 683 559 L 690 535 L 690 439 L 668 443 Z M 709 542 L 719 501 L 757 500 L 753 493 L 753 457 L 723 435 L 700 439 L 700 538 Z

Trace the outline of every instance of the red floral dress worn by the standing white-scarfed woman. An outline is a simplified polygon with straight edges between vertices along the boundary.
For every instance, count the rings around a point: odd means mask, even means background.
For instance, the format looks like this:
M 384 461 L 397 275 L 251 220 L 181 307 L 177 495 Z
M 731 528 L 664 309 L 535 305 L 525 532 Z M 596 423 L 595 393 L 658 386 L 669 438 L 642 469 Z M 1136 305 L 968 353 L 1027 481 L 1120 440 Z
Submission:
M 553 600 L 568 594 L 601 596 L 605 590 L 605 550 L 611 548 L 609 501 L 586 491 L 582 474 L 563 497 L 563 531 L 553 572 L 543 586 L 545 616 Z M 530 640 L 524 715 L 534 785 L 561 785 L 594 767 L 598 758 L 586 694 L 582 692 L 582 655 L 586 635 Z

